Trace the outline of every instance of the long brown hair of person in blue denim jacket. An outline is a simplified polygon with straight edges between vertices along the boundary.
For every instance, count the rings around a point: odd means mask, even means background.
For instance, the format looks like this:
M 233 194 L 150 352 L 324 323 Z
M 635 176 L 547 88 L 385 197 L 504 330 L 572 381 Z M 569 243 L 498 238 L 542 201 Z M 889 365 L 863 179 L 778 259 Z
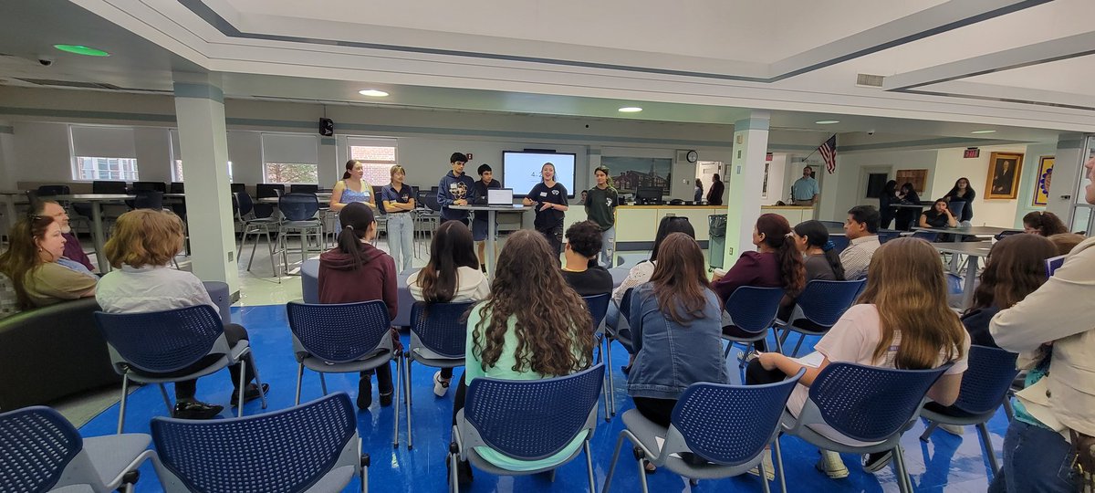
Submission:
M 661 260 L 650 284 L 658 309 L 675 322 L 688 325 L 703 318 L 711 284 L 704 275 L 703 251 L 692 237 L 676 232 L 661 242 Z

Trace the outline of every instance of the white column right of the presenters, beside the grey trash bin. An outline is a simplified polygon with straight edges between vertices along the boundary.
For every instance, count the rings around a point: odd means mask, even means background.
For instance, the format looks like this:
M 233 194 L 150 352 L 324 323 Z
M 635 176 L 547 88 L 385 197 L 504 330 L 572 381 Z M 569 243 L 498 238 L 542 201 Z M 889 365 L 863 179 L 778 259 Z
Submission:
M 726 199 L 726 250 L 723 265 L 729 268 L 741 252 L 753 250 L 752 228 L 760 217 L 760 191 L 764 184 L 768 127 L 771 114 L 752 111 L 734 123 L 734 158 L 723 181 L 729 188 Z

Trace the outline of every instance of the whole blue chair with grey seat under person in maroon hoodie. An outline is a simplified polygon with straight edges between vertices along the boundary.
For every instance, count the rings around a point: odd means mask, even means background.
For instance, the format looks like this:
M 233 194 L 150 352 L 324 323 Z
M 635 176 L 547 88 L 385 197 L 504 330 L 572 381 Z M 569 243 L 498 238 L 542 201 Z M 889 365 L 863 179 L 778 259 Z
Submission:
M 391 319 L 383 301 L 331 305 L 289 301 L 285 308 L 297 355 L 295 404 L 300 404 L 304 368 L 320 374 L 320 387 L 326 395 L 323 374 L 368 371 L 396 357 L 389 336 Z

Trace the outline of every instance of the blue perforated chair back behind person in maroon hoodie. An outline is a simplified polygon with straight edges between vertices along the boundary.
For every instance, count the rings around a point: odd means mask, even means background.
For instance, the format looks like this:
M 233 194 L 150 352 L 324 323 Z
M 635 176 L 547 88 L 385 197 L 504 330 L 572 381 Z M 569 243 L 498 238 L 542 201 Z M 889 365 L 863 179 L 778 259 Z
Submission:
M 328 363 L 354 362 L 373 353 L 388 337 L 391 318 L 383 301 L 285 306 L 289 330 L 310 354 Z

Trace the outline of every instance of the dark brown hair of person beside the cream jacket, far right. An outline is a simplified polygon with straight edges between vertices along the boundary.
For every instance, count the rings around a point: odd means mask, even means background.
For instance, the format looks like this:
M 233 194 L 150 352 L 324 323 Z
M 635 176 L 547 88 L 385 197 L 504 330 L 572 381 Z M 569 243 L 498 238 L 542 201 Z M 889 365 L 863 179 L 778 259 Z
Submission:
M 992 245 L 981 284 L 973 290 L 978 308 L 1011 308 L 1046 283 L 1046 259 L 1057 256 L 1057 245 L 1039 234 L 1012 234 Z

